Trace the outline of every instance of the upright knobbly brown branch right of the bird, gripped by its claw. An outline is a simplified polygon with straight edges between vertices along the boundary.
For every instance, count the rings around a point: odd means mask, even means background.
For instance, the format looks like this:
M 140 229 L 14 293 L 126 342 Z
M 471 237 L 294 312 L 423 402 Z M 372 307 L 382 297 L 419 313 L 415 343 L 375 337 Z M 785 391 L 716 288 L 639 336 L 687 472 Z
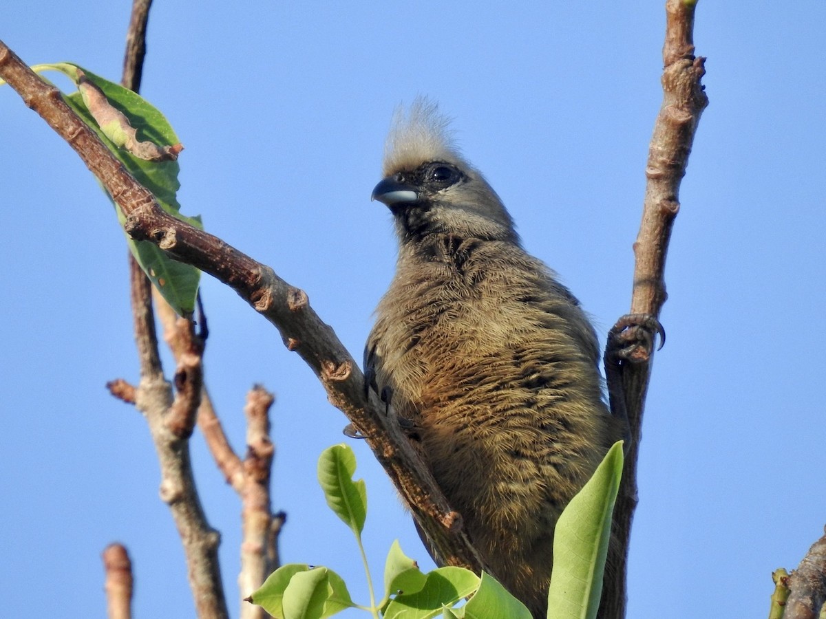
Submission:
M 691 144 L 708 97 L 700 79 L 704 58 L 694 55 L 695 0 L 667 0 L 666 35 L 662 48 L 662 107 L 654 124 L 648 163 L 643 218 L 634 243 L 634 288 L 631 314 L 657 318 L 666 300 L 665 260 L 672 225 L 680 208 L 680 182 L 686 173 Z M 609 564 L 615 582 L 606 582 L 604 617 L 624 617 L 625 564 L 631 522 L 637 506 L 637 456 L 643 406 L 651 376 L 653 346 L 640 346 L 625 361 L 606 352 L 605 375 L 612 409 L 624 408 L 629 420 L 623 486 L 615 507 L 616 545 Z M 634 361 L 634 362 L 628 362 Z M 615 401 L 622 397 L 624 402 Z

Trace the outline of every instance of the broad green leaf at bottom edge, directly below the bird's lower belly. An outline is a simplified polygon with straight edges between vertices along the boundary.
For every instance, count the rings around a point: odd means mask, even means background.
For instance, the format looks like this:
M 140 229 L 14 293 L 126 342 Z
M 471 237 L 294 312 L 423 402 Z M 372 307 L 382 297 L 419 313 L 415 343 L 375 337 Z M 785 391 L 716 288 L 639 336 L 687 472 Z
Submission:
M 443 567 L 427 574 L 425 586 L 416 593 L 402 594 L 387 604 L 384 619 L 430 619 L 442 614 L 479 587 L 479 577 L 469 569 Z

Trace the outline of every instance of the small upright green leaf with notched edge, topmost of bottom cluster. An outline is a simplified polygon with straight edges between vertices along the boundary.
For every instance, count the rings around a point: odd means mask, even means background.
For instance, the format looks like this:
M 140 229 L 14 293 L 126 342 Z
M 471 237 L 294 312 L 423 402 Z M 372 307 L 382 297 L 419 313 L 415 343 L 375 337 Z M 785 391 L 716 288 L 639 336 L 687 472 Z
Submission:
M 318 459 L 318 481 L 336 515 L 361 537 L 367 517 L 367 488 L 364 480 L 353 480 L 356 456 L 347 445 L 334 445 Z

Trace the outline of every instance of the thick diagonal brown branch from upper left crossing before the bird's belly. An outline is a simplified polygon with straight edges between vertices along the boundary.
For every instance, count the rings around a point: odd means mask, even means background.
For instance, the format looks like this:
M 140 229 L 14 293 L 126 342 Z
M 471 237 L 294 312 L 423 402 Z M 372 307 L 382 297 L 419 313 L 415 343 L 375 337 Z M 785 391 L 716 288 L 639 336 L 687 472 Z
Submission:
M 333 330 L 311 309 L 306 294 L 287 284 L 271 268 L 255 262 L 211 234 L 176 220 L 65 105 L 59 91 L 32 73 L 0 42 L 0 77 L 61 135 L 106 187 L 126 215 L 133 239 L 156 243 L 170 257 L 186 262 L 231 286 L 273 323 L 290 350 L 298 352 L 319 376 L 330 403 L 341 409 L 366 438 L 420 526 L 449 565 L 477 572 L 483 567 L 426 465 L 396 422 L 395 414 L 375 394 L 365 399 L 364 379 L 353 357 Z

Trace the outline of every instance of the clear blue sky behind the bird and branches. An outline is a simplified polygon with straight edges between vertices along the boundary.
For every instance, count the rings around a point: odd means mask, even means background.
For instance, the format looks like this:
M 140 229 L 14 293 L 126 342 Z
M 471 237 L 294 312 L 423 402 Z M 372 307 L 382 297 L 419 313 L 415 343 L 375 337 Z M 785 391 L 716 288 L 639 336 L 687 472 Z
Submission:
M 156 2 L 142 93 L 186 147 L 183 211 L 303 288 L 354 356 L 395 261 L 390 215 L 369 200 L 383 139 L 394 107 L 419 94 L 455 119 L 526 248 L 598 330 L 627 311 L 662 2 L 239 6 Z M 73 61 L 117 81 L 129 10 L 12 0 L 0 39 L 29 64 Z M 698 7 L 710 106 L 668 254 L 629 617 L 761 617 L 771 570 L 795 567 L 826 523 L 824 23 L 820 0 Z M 146 424 L 104 389 L 137 376 L 112 207 L 8 88 L 0 119 L 3 614 L 104 617 L 99 555 L 122 541 L 136 616 L 192 617 Z M 249 386 L 278 398 L 282 560 L 337 569 L 366 600 L 354 543 L 316 484 L 346 419 L 234 292 L 209 277 L 202 291 L 207 383 L 238 451 Z M 430 565 L 382 470 L 352 444 L 377 582 L 396 538 Z M 193 458 L 236 617 L 240 504 L 200 437 Z

